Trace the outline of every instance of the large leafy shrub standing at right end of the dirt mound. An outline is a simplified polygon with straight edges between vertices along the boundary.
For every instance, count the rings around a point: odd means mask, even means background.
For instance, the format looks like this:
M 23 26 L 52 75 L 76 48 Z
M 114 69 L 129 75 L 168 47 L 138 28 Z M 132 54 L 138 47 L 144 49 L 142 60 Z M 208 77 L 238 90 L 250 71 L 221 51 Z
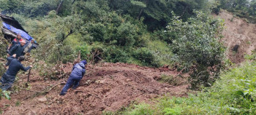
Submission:
M 223 21 L 214 20 L 207 13 L 196 13 L 197 17 L 190 18 L 188 22 L 174 17 L 167 26 L 168 32 L 174 32 L 177 36 L 171 47 L 178 56 L 178 62 L 187 71 L 189 68 L 193 71 L 190 79 L 192 89 L 198 89 L 200 85 L 210 86 L 217 79 L 225 51 L 219 42 Z

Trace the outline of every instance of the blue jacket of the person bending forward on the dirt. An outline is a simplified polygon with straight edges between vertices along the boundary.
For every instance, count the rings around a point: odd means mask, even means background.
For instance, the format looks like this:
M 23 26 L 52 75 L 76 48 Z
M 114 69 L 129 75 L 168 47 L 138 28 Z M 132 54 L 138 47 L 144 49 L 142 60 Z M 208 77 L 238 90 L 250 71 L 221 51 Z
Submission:
M 86 74 L 86 68 L 85 68 L 84 64 L 83 63 L 77 63 L 73 67 L 70 76 L 82 79 L 84 74 Z

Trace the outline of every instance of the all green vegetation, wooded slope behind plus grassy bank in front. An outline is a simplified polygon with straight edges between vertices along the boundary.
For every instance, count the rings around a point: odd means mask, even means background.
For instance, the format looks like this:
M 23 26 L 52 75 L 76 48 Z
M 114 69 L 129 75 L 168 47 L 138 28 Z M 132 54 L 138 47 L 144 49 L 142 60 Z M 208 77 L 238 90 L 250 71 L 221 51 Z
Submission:
M 15 17 L 40 44 L 32 56 L 49 66 L 71 62 L 80 52 L 90 63 L 173 65 L 178 71 L 191 72 L 189 82 L 193 90 L 211 87 L 189 98 L 160 99 L 155 107 L 140 104 L 127 108 L 121 111 L 125 114 L 255 114 L 255 63 L 233 68 L 217 80 L 225 58 L 225 47 L 220 41 L 224 24 L 210 15 L 211 9 L 219 12 L 222 8 L 255 17 L 255 0 L 0 3 L 1 13 Z M 1 33 L 0 38 L 3 39 Z M 0 44 L 0 56 L 4 57 L 6 43 Z

